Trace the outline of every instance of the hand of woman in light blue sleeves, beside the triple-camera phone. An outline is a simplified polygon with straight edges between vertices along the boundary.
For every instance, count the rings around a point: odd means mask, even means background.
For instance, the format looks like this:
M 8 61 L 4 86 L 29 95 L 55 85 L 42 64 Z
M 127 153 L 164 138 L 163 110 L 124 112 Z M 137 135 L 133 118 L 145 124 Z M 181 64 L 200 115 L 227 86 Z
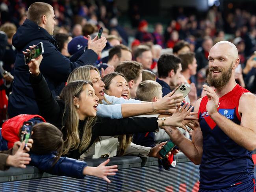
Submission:
M 176 109 L 181 105 L 181 102 L 185 100 L 182 94 L 173 95 L 174 91 L 165 95 L 158 102 L 154 102 L 154 109 L 156 111 L 160 110 L 168 110 L 168 109 Z

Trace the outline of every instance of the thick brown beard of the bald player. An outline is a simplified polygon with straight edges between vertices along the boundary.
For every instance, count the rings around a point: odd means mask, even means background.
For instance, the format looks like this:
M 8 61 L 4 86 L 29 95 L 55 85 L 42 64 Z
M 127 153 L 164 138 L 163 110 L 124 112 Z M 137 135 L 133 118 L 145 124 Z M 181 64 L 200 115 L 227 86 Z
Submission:
M 212 77 L 213 71 L 220 71 L 222 72 L 220 77 Z M 224 87 L 228 81 L 231 78 L 231 74 L 232 74 L 232 65 L 230 65 L 230 67 L 228 68 L 228 70 L 223 71 L 221 68 L 219 67 L 212 67 L 209 70 L 209 74 L 207 76 L 206 82 L 210 85 L 213 86 L 217 89 L 220 89 L 222 87 Z

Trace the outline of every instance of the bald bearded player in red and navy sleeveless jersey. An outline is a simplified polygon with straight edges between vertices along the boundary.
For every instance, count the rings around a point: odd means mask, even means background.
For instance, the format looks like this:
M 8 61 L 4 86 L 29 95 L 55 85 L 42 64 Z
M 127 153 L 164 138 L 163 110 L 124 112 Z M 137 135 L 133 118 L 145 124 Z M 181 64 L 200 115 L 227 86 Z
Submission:
M 236 46 L 228 41 L 210 50 L 207 96 L 195 104 L 200 127 L 192 141 L 176 127 L 164 127 L 173 142 L 200 164 L 199 192 L 255 192 L 252 151 L 256 148 L 256 96 L 235 81 Z

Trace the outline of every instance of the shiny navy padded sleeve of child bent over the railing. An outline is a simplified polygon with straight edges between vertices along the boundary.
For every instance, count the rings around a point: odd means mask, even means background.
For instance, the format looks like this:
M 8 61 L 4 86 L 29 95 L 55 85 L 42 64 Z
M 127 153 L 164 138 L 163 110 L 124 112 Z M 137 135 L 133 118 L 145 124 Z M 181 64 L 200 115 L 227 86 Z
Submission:
M 69 157 L 61 157 L 54 166 L 55 154 L 54 152 L 48 155 L 36 155 L 35 153 L 30 153 L 30 164 L 42 170 L 43 172 L 52 175 L 61 175 L 68 177 L 75 177 L 78 179 L 83 179 L 83 168 L 87 166 L 86 162 L 78 161 L 76 159 L 71 159 Z

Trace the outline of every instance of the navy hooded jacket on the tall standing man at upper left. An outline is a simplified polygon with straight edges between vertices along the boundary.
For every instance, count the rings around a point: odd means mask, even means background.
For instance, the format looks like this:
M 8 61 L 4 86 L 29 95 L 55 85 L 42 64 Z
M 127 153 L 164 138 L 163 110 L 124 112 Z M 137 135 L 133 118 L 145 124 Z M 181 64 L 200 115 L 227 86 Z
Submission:
M 13 36 L 13 46 L 18 54 L 15 60 L 14 81 L 12 94 L 9 96 L 8 113 L 10 117 L 18 114 L 38 114 L 37 103 L 29 81 L 29 67 L 25 65 L 22 51 L 30 45 L 43 42 L 44 54 L 40 65 L 48 87 L 54 96 L 58 96 L 67 78 L 76 67 L 93 64 L 97 54 L 87 50 L 75 62 L 71 62 L 56 48 L 55 39 L 42 27 L 26 19 Z

